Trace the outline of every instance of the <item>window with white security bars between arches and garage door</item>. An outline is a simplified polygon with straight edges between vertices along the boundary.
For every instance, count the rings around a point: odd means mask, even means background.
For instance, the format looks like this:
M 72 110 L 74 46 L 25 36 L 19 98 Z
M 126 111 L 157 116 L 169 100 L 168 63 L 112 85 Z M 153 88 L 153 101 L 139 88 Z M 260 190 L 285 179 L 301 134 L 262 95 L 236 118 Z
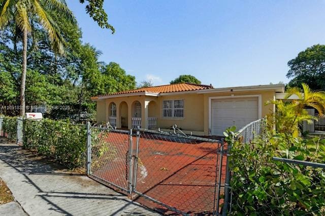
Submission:
M 184 118 L 183 100 L 164 100 L 162 104 L 161 117 L 167 119 Z

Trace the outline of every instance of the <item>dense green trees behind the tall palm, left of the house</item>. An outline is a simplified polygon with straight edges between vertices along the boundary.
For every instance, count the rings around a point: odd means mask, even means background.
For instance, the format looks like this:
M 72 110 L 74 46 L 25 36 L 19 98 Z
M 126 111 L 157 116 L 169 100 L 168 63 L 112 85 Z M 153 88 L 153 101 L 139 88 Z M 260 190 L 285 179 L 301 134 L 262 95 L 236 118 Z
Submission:
M 82 32 L 76 22 L 67 20 L 57 11 L 49 13 L 54 20 L 60 20 L 57 27 L 65 41 L 65 55 L 57 55 L 51 49 L 51 41 L 42 26 L 33 26 L 27 43 L 27 106 L 73 107 L 72 110 L 48 109 L 47 116 L 66 118 L 82 111 L 95 112 L 96 105 L 90 100 L 92 96 L 135 88 L 134 76 L 126 74 L 117 63 L 99 62 L 101 52 L 82 43 Z M 32 23 L 37 22 L 34 19 L 31 17 Z M 0 31 L 0 105 L 19 104 L 21 39 L 21 32 L 16 31 L 14 23 Z M 16 115 L 18 111 L 5 109 L 0 113 Z

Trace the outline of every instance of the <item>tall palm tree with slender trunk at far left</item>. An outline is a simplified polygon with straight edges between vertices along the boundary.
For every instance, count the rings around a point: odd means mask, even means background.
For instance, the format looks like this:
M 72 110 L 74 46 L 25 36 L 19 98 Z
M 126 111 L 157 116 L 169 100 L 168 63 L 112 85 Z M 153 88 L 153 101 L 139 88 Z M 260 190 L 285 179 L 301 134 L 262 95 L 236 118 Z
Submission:
M 74 21 L 72 12 L 65 0 L 0 0 L 0 30 L 11 22 L 23 33 L 23 61 L 20 83 L 20 115 L 25 114 L 25 84 L 27 69 L 27 36 L 32 31 L 32 20 L 37 20 L 47 31 L 51 48 L 55 53 L 64 54 L 64 39 L 51 16 L 51 11 L 63 14 L 65 18 Z

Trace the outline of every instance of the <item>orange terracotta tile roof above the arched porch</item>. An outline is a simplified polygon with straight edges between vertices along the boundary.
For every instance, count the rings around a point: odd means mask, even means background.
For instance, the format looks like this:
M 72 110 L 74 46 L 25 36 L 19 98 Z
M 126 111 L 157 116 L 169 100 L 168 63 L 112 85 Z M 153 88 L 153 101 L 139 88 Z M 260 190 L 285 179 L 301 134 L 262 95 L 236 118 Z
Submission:
M 186 92 L 186 91 L 195 91 L 195 90 L 203 90 L 203 89 L 213 89 L 212 85 L 202 85 L 202 84 L 193 84 L 193 83 L 177 83 L 177 84 L 168 84 L 168 85 L 158 85 L 155 87 L 146 87 L 136 90 L 129 90 L 124 92 L 117 92 L 107 95 L 99 95 L 92 97 L 92 100 L 98 99 L 101 96 L 109 96 L 109 95 L 123 95 L 129 93 L 172 93 L 172 92 Z

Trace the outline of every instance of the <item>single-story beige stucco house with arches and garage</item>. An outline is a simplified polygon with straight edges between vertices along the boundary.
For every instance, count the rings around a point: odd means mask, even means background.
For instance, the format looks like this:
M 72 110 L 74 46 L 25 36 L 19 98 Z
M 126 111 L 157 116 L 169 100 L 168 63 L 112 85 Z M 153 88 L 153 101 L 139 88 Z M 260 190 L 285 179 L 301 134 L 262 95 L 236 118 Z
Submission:
M 284 84 L 213 88 L 178 83 L 92 97 L 97 122 L 117 128 L 162 128 L 177 124 L 198 136 L 222 136 L 225 128 L 237 128 L 274 112 L 268 100 L 284 96 Z

